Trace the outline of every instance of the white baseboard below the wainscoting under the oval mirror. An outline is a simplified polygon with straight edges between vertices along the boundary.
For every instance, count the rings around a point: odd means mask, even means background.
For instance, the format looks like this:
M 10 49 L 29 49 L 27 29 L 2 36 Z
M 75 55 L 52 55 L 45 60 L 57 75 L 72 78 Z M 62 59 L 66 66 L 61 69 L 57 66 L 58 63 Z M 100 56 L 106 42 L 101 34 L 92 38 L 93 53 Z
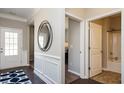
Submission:
M 47 77 L 46 75 L 44 75 L 43 73 L 41 73 L 39 70 L 37 70 L 36 68 L 34 69 L 34 73 L 39 76 L 40 79 L 42 79 L 44 82 L 46 82 L 47 84 L 57 84 L 57 82 L 53 81 L 52 79 L 50 79 L 49 77 Z

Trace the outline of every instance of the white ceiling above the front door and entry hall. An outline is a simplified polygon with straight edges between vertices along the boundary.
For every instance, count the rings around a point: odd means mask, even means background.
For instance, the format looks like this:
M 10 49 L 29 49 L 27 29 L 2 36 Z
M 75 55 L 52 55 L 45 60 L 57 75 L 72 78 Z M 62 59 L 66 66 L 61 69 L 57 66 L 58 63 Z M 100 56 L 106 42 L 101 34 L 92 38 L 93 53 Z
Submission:
M 29 19 L 38 8 L 0 8 L 0 13 L 11 14 L 21 18 Z

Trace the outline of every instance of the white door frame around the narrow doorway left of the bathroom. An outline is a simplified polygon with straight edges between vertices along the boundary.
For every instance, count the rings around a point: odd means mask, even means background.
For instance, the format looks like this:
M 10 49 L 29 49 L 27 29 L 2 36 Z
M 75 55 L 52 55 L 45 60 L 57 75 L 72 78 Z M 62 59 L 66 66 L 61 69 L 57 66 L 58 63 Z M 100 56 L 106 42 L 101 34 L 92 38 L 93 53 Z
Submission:
M 71 14 L 71 13 L 69 13 L 69 12 L 65 12 L 65 16 L 68 16 L 69 18 L 71 18 L 71 19 L 74 19 L 74 20 L 76 20 L 76 21 L 78 21 L 78 22 L 80 22 L 80 52 L 81 52 L 81 54 L 80 54 L 80 73 L 79 73 L 79 76 L 80 76 L 80 78 L 84 78 L 84 73 L 85 73 L 85 67 L 84 67 L 84 27 L 85 27 L 85 22 L 84 22 L 84 20 L 82 19 L 82 18 L 80 18 L 80 17 L 78 17 L 78 16 L 75 16 L 75 15 L 73 15 L 73 14 Z M 64 81 L 64 83 L 65 83 L 65 48 L 64 48 L 64 43 L 65 43 L 65 31 L 63 32 L 63 34 L 64 34 L 64 37 L 63 37 L 63 49 L 64 50 L 62 50 L 63 51 L 63 61 L 64 61 L 64 67 L 62 68 L 62 70 L 63 70 L 63 81 Z

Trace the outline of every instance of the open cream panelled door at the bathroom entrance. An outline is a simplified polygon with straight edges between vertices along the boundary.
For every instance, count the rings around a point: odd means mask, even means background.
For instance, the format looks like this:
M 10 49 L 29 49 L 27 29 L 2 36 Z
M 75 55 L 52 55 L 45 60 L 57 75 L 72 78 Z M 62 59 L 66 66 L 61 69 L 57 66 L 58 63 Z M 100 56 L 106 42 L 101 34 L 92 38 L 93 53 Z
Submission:
M 102 26 L 90 22 L 90 77 L 102 72 Z

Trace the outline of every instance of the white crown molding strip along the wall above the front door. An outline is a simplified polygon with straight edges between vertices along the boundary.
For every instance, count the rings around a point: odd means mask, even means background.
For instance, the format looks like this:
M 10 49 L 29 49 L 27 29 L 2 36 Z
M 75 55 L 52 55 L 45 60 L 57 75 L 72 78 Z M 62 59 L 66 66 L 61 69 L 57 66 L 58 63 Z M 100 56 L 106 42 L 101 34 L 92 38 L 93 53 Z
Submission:
M 11 15 L 11 14 L 0 13 L 0 17 L 11 19 L 11 20 L 16 20 L 16 21 L 21 21 L 21 22 L 27 22 L 27 19 L 16 16 L 16 15 Z

